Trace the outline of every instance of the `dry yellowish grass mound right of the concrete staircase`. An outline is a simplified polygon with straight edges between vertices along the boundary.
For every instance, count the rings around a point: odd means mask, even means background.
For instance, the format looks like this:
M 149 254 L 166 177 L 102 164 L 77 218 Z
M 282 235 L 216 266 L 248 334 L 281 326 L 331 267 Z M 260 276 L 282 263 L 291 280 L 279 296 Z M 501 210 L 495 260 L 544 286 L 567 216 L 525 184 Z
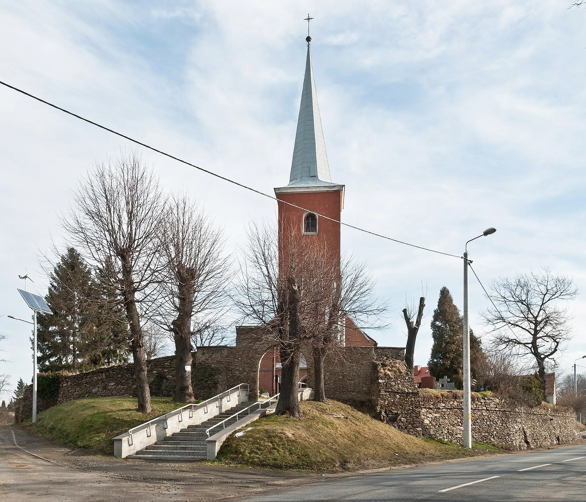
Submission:
M 271 415 L 230 436 L 214 463 L 271 469 L 326 471 L 369 469 L 495 452 L 422 440 L 397 431 L 337 401 L 304 401 L 297 420 Z

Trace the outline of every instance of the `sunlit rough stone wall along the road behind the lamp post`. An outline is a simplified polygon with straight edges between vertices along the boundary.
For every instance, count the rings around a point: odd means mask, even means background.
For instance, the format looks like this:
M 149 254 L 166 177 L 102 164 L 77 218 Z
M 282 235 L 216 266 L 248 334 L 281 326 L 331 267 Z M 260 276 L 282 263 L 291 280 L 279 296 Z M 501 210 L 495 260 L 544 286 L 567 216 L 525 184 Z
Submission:
M 462 391 L 419 390 L 400 361 L 381 361 L 377 366 L 376 408 L 382 421 L 414 436 L 462 442 Z M 529 408 L 472 393 L 473 442 L 524 450 L 578 439 L 571 409 L 549 404 Z

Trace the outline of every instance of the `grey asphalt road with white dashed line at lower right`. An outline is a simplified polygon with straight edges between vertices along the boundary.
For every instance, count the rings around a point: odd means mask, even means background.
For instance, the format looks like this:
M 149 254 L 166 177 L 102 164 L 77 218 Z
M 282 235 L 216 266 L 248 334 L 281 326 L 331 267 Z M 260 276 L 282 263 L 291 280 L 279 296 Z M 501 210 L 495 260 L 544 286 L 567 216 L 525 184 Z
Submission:
M 586 445 L 353 476 L 246 500 L 586 501 Z

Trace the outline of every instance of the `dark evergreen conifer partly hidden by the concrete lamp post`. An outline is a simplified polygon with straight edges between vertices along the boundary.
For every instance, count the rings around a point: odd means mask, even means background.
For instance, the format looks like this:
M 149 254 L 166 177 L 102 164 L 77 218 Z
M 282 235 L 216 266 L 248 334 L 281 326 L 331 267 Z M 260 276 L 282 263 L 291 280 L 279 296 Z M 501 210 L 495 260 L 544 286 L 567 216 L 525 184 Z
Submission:
M 440 290 L 438 306 L 431 320 L 434 344 L 428 361 L 430 373 L 436 378 L 447 376 L 456 387 L 462 387 L 464 367 L 464 318 L 445 286 Z M 484 353 L 481 341 L 470 330 L 470 371 L 472 378 L 482 375 Z

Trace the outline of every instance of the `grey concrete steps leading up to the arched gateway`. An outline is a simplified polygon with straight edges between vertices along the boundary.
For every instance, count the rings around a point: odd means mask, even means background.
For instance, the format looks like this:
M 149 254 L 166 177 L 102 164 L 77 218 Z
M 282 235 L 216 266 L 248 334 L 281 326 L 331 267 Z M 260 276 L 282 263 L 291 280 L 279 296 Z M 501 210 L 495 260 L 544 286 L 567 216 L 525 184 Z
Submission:
M 176 462 L 185 462 L 189 460 L 205 459 L 207 455 L 207 434 L 206 429 L 209 429 L 214 424 L 222 422 L 224 419 L 241 409 L 247 408 L 252 403 L 243 402 L 233 408 L 227 409 L 220 415 L 210 418 L 206 422 L 199 425 L 189 425 L 179 432 L 173 432 L 171 436 L 167 436 L 161 441 L 157 441 L 154 445 L 147 446 L 147 448 L 138 451 L 134 455 L 129 455 L 128 459 L 150 459 L 150 460 L 175 460 Z M 243 418 L 241 415 L 239 418 Z M 226 422 L 226 427 L 236 423 L 236 417 Z M 212 431 L 212 434 L 220 432 L 222 428 L 217 428 Z

